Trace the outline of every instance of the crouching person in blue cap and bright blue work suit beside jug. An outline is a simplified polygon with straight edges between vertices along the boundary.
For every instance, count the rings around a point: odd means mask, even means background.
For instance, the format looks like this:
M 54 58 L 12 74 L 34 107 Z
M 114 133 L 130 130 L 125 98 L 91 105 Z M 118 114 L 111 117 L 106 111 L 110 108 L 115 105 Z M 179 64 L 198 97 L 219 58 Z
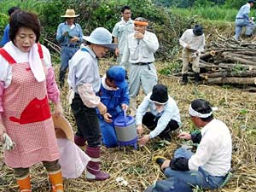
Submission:
M 107 113 L 98 113 L 102 130 L 102 142 L 108 148 L 117 146 L 117 137 L 113 121 L 129 106 L 128 84 L 125 80 L 125 69 L 120 66 L 110 67 L 102 77 L 101 89 L 98 93 L 101 102 L 107 107 Z M 98 111 L 97 111 L 98 112 Z

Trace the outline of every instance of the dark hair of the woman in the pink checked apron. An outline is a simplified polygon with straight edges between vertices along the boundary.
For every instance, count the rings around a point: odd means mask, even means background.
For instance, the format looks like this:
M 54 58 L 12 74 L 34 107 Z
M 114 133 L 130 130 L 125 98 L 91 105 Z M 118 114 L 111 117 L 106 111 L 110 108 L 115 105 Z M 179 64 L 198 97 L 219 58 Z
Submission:
M 32 29 L 36 34 L 36 43 L 40 38 L 40 21 L 38 20 L 38 15 L 27 11 L 15 12 L 10 17 L 9 21 L 9 39 L 14 43 L 16 33 L 19 31 L 20 27 L 26 27 Z

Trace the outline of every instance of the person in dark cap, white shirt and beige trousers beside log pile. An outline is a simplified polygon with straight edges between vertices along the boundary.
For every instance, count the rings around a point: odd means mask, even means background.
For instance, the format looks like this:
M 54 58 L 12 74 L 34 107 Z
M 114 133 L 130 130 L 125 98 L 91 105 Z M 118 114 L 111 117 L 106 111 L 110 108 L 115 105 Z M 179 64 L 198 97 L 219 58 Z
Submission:
M 199 60 L 201 51 L 203 51 L 206 44 L 202 26 L 195 25 L 193 29 L 187 29 L 183 32 L 179 44 L 183 46 L 183 69 L 180 84 L 184 85 L 189 82 L 189 63 L 192 64 L 192 70 L 195 73 L 195 84 L 199 84 L 201 81 Z

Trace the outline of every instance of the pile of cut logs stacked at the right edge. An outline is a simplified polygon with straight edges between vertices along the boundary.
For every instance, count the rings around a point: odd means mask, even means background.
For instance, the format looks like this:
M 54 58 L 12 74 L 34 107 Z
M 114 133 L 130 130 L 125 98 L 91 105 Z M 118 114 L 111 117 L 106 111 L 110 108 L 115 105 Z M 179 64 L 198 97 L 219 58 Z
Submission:
M 200 68 L 205 84 L 231 84 L 256 91 L 256 42 L 252 38 L 250 42 L 236 41 L 218 34 L 201 54 Z

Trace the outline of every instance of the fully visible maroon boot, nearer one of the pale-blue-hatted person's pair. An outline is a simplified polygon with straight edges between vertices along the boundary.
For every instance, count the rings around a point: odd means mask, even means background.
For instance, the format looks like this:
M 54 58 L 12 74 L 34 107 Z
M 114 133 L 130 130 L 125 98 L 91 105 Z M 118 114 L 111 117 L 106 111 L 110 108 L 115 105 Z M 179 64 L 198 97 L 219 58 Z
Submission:
M 86 148 L 86 154 L 90 156 L 90 161 L 86 166 L 86 178 L 88 180 L 105 180 L 109 178 L 109 174 L 107 172 L 102 172 L 100 170 L 100 150 L 101 148 Z

